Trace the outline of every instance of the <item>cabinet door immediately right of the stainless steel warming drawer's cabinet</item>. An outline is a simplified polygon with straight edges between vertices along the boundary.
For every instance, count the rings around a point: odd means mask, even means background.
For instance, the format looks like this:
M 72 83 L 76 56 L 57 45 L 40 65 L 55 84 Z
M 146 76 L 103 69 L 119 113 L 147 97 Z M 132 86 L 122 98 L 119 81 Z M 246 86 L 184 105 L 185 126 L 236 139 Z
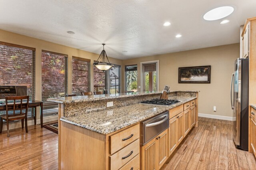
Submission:
M 178 144 L 178 115 L 170 119 L 169 127 L 169 156 Z

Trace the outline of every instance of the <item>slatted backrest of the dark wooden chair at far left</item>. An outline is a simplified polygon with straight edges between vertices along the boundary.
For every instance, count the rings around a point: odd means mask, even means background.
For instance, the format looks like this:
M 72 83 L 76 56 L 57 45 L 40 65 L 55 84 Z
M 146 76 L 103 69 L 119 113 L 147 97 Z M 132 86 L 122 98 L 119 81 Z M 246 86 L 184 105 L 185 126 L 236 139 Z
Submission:
M 20 100 L 17 101 L 17 100 Z M 23 102 L 23 100 L 26 100 L 26 102 Z M 8 101 L 13 101 L 12 103 L 9 103 Z M 13 117 L 17 115 L 27 115 L 28 114 L 28 102 L 29 102 L 29 96 L 15 96 L 15 97 L 5 97 L 5 103 L 6 103 L 6 118 Z M 25 112 L 22 112 L 22 110 L 25 109 Z M 9 113 L 9 111 L 12 111 L 12 113 Z M 19 111 L 19 114 L 15 114 L 15 111 Z

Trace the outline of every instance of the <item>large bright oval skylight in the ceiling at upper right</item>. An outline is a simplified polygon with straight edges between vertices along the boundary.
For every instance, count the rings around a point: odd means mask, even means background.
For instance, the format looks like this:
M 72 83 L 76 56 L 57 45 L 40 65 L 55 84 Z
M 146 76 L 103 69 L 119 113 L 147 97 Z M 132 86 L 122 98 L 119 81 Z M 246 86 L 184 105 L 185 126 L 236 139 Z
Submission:
M 204 14 L 204 19 L 207 21 L 219 20 L 229 16 L 233 11 L 234 8 L 232 6 L 221 6 L 206 12 L 206 14 Z

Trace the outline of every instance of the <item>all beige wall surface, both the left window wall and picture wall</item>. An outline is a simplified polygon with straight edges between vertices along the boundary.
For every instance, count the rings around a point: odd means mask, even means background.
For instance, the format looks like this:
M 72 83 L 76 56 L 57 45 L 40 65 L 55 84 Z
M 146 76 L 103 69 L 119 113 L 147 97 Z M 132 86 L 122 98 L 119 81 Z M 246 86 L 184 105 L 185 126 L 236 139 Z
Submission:
M 0 30 L 0 41 L 36 48 L 36 100 L 41 100 L 41 51 L 53 51 L 68 55 L 68 93 L 72 91 L 72 56 L 91 59 L 98 54 L 59 45 L 12 32 Z M 100 52 L 100 51 L 99 51 Z M 159 90 L 169 85 L 171 90 L 199 90 L 199 113 L 232 117 L 230 109 L 230 77 L 233 63 L 239 57 L 239 43 L 140 57 L 128 60 L 114 59 L 110 62 L 121 65 L 121 91 L 124 91 L 124 65 L 138 64 L 138 85 L 140 85 L 140 62 L 159 60 Z M 178 67 L 211 65 L 210 84 L 178 83 Z M 91 71 L 91 90 L 93 91 L 93 70 Z M 140 89 L 138 89 L 140 90 Z M 213 111 L 213 106 L 217 111 Z

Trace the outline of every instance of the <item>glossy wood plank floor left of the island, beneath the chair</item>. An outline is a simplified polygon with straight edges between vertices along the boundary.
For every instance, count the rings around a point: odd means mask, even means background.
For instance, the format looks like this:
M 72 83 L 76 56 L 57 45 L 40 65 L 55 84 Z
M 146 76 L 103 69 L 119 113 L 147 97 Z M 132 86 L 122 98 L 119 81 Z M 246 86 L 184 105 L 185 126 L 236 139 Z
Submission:
M 40 125 L 10 130 L 0 134 L 0 169 L 58 169 L 58 134 Z

